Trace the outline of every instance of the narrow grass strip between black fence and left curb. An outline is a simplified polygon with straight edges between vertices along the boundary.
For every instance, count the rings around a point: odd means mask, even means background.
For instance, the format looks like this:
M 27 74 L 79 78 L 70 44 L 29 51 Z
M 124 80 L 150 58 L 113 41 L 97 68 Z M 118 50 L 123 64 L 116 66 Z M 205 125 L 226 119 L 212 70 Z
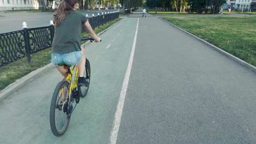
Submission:
M 108 22 L 106 25 L 100 26 L 100 28 L 95 28 L 95 33 L 100 33 L 104 29 L 112 26 L 115 22 L 120 21 L 117 19 L 112 22 Z M 82 33 L 82 37 L 88 37 L 88 33 Z M 84 43 L 84 42 L 83 42 Z M 34 53 L 31 55 L 31 63 L 27 62 L 27 58 L 22 58 L 19 61 L 10 63 L 0 68 L 0 90 L 4 89 L 10 83 L 15 82 L 15 80 L 20 79 L 21 77 L 31 73 L 31 71 L 38 68 L 44 67 L 44 65 L 51 62 L 51 48 Z

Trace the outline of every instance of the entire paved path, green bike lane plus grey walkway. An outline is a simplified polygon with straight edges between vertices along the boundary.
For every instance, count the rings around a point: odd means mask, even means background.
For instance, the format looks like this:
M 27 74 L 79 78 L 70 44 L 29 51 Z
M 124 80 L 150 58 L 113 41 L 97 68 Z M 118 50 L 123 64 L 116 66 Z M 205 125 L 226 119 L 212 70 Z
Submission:
M 65 135 L 50 130 L 55 68 L 0 101 L 0 143 L 109 143 L 137 42 L 117 143 L 256 143 L 256 74 L 156 17 L 132 16 L 86 46 L 91 85 Z

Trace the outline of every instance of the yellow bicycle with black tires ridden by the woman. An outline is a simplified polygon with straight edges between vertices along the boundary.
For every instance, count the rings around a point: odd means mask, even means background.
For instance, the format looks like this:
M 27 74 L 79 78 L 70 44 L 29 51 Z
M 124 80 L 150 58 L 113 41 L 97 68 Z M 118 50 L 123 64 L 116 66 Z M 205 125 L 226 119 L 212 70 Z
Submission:
M 89 37 L 82 40 L 90 40 L 92 42 L 94 39 Z M 78 86 L 79 71 L 77 65 L 71 66 L 65 63 L 59 65 L 64 65 L 64 68 L 67 69 L 67 77 L 66 80 L 58 83 L 51 99 L 50 126 L 55 136 L 61 136 L 66 132 L 71 114 L 79 103 L 80 97 L 85 97 L 88 93 L 91 74 L 90 62 L 86 58 L 84 77 L 86 77 L 86 81 L 89 84 Z M 75 106 L 73 108 L 74 101 Z

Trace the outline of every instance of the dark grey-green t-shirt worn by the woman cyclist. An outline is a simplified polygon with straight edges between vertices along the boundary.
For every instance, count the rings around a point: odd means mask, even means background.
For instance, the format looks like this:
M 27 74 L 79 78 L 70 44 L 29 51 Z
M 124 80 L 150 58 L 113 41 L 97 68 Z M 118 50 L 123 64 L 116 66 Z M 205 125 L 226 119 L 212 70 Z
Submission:
M 81 51 L 81 29 L 86 21 L 88 19 L 85 15 L 72 10 L 60 25 L 55 27 L 53 53 Z

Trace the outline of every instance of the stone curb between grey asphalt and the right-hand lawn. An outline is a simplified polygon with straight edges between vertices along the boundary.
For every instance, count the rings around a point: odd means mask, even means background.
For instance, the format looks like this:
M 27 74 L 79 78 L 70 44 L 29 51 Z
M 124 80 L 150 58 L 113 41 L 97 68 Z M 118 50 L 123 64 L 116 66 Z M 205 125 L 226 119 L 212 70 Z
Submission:
M 226 52 L 226 51 L 220 49 L 219 47 L 217 47 L 217 46 L 215 46 L 215 45 L 213 45 L 213 44 L 208 43 L 207 41 L 205 41 L 205 40 L 203 40 L 203 39 L 201 39 L 201 38 L 199 38 L 199 37 L 196 37 L 196 35 L 191 34 L 191 33 L 187 32 L 187 31 L 185 31 L 184 29 L 173 25 L 173 23 L 168 22 L 168 21 L 162 19 L 161 17 L 158 17 L 158 18 L 161 19 L 161 20 L 163 20 L 163 21 L 165 21 L 165 22 L 167 22 L 167 23 L 169 23 L 169 24 L 172 25 L 173 27 L 176 27 L 176 28 L 179 29 L 180 31 L 191 35 L 191 36 L 194 37 L 195 39 L 201 41 L 202 43 L 204 43 L 204 44 L 206 44 L 206 45 L 208 45 L 208 46 L 210 46 L 212 49 L 214 49 L 214 50 L 216 50 L 216 51 L 222 53 L 223 55 L 225 55 L 225 56 L 227 56 L 227 57 L 233 59 L 233 60 L 236 61 L 237 63 L 240 63 L 240 64 L 243 65 L 244 67 L 246 67 L 246 68 L 248 68 L 248 69 L 254 71 L 254 73 L 256 73 L 256 67 L 254 67 L 253 65 L 251 65 L 251 64 L 249 64 L 249 63 L 243 61 L 242 59 L 240 59 L 240 58 L 238 58 L 238 57 L 235 57 L 235 56 L 231 55 L 230 53 L 228 53 L 228 52 Z

